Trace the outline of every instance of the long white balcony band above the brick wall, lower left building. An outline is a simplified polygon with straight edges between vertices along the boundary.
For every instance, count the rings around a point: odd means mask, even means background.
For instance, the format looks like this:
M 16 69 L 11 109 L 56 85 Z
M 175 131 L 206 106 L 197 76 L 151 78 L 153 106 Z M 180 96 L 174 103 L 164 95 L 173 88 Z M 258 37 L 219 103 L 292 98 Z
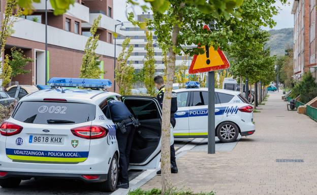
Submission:
M 15 32 L 12 34 L 14 37 L 23 38 L 24 40 L 45 43 L 45 25 L 33 22 L 30 20 L 17 18 L 14 23 L 13 29 Z M 52 26 L 47 26 L 47 42 L 50 45 L 59 47 L 70 48 L 74 50 L 84 51 L 85 44 L 88 37 L 68 32 Z M 121 51 L 122 47 L 116 46 L 117 51 Z M 99 41 L 96 53 L 105 56 L 114 56 L 114 45 L 106 42 Z M 118 56 L 117 55 L 116 57 Z

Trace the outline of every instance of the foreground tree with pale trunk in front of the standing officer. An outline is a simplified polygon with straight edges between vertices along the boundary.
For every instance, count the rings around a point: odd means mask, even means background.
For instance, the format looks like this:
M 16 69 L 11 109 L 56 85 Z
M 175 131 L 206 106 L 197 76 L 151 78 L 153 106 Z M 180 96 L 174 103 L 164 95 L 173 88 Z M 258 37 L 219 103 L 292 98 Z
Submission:
M 286 2 L 286 0 L 282 0 Z M 164 3 L 156 8 L 158 2 Z M 168 2 L 168 3 L 166 3 Z M 162 118 L 162 194 L 169 193 L 171 186 L 170 170 L 170 108 L 176 54 L 203 54 L 203 48 L 184 48 L 183 45 L 213 46 L 226 50 L 230 45 L 246 38 L 250 27 L 273 26 L 272 16 L 277 13 L 275 0 L 231 1 L 151 1 L 153 20 L 148 20 L 148 28 L 155 29 L 157 41 L 163 50 L 168 51 L 166 91 L 163 100 Z M 240 6 L 240 7 L 239 7 Z M 166 8 L 166 9 L 165 9 Z M 163 10 L 163 11 L 162 11 Z M 129 20 L 134 18 L 129 14 Z M 135 23 L 138 23 L 135 21 Z M 211 24 L 213 29 L 203 29 Z M 139 23 L 139 25 L 143 25 Z M 240 42 L 244 45 L 243 42 Z M 250 44 L 250 43 L 248 43 Z

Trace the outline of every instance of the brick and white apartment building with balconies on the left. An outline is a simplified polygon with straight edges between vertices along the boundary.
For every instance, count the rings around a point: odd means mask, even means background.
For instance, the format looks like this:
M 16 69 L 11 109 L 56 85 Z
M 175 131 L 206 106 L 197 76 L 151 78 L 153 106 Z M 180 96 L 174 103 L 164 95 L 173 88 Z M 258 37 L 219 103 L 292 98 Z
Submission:
M 113 0 L 76 0 L 75 4 L 63 15 L 55 16 L 50 1 L 47 1 L 48 54 L 45 68 L 45 0 L 34 3 L 34 12 L 21 16 L 14 24 L 14 33 L 8 38 L 5 53 L 12 47 L 20 48 L 27 57 L 34 59 L 25 69 L 29 73 L 18 75 L 12 81 L 22 85 L 45 84 L 45 75 L 50 77 L 78 77 L 84 47 L 94 19 L 102 16 L 97 33 L 100 41 L 96 53 L 100 55 L 100 68 L 105 71 L 102 78 L 113 81 L 114 45 L 112 32 Z M 121 47 L 117 46 L 117 50 Z M 47 69 L 47 71 L 46 71 Z M 110 89 L 110 91 L 113 89 Z

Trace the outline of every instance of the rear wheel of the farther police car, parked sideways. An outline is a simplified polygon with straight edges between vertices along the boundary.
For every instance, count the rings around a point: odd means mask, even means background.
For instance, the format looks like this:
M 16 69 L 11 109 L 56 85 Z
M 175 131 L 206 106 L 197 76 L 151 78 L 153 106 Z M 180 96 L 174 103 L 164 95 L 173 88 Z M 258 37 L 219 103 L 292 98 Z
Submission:
M 221 142 L 229 143 L 236 141 L 238 135 L 238 126 L 232 122 L 221 123 L 217 128 L 217 137 Z

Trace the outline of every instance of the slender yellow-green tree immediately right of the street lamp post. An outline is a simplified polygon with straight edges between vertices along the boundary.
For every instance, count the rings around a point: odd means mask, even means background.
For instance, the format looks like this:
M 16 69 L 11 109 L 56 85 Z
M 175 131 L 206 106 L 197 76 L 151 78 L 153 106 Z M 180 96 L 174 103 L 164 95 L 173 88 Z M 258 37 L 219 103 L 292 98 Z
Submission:
M 115 81 L 119 87 L 119 93 L 121 95 L 129 95 L 131 93 L 132 84 L 133 84 L 133 73 L 134 67 L 131 64 L 128 64 L 128 59 L 133 51 L 133 46 L 130 44 L 130 38 L 125 38 L 122 42 L 122 51 L 118 56 L 118 64 L 115 69 Z M 131 63 L 131 61 L 130 61 Z

